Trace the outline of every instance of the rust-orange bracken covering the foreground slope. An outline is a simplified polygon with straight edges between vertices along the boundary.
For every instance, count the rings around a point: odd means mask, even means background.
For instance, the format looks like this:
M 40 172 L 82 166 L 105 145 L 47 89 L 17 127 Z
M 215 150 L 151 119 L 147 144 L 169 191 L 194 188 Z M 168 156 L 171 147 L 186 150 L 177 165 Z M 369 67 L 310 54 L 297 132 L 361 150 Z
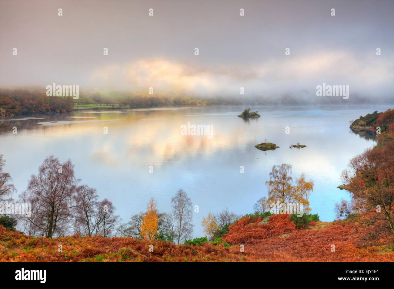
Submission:
M 233 239 L 240 232 L 245 232 L 248 237 L 240 235 L 238 239 L 245 242 L 232 242 L 229 248 L 223 243 L 175 245 L 131 237 L 66 236 L 50 239 L 26 236 L 0 226 L 0 261 L 394 261 L 393 243 L 361 245 L 357 238 L 364 227 L 356 223 L 318 221 L 309 229 L 297 230 L 287 221 L 288 215 L 272 217 L 270 222 L 273 222 L 268 226 L 258 225 L 258 219 L 252 223 L 248 223 L 248 217 L 241 219 L 223 239 Z M 151 244 L 154 245 L 153 252 L 149 252 Z M 245 252 L 240 252 L 240 244 L 245 246 Z M 61 252 L 59 245 L 62 245 Z M 331 252 L 331 245 L 335 245 L 335 252 Z

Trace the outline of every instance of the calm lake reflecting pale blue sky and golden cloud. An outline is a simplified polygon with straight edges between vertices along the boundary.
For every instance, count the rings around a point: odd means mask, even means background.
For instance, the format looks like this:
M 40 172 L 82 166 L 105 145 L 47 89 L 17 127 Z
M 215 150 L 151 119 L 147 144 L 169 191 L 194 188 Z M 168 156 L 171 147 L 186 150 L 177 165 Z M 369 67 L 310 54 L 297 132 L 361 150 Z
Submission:
M 371 137 L 353 133 L 349 120 L 390 106 L 250 107 L 261 117 L 243 120 L 237 115 L 245 107 L 232 106 L 2 118 L 0 153 L 17 194 L 26 190 L 30 175 L 38 173 L 48 155 L 61 162 L 70 158 L 81 184 L 96 188 L 100 199 L 112 201 L 123 222 L 145 211 L 152 196 L 159 212 L 169 212 L 171 197 L 182 188 L 199 206 L 193 213 L 197 237 L 203 236 L 201 220 L 208 212 L 225 207 L 238 214 L 253 212 L 253 204 L 267 196 L 265 182 L 272 166 L 289 163 L 294 179 L 305 173 L 315 182 L 309 198 L 312 213 L 333 221 L 335 203 L 349 199 L 349 193 L 336 188 L 342 184 L 341 171 L 350 158 L 376 144 Z M 182 135 L 181 126 L 188 123 L 211 125 L 212 138 Z M 280 148 L 254 147 L 265 139 Z M 297 142 L 307 147 L 289 148 Z

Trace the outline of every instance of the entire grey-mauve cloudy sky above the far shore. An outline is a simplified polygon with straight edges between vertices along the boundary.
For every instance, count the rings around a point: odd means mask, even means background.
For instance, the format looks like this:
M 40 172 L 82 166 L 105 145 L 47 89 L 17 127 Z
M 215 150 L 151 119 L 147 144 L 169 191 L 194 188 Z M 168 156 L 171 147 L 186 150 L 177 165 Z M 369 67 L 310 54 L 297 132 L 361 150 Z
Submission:
M 392 0 L 0 0 L 0 87 L 313 96 L 325 82 L 387 97 L 393 12 Z

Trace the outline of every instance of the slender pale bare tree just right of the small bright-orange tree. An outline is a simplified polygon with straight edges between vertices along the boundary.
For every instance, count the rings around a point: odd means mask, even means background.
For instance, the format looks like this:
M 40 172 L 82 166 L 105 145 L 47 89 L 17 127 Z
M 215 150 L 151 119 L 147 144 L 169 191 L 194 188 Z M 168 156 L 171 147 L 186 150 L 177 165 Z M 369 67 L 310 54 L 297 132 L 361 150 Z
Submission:
M 171 208 L 175 221 L 175 240 L 179 245 L 193 233 L 193 205 L 184 190 L 179 189 L 171 199 Z

